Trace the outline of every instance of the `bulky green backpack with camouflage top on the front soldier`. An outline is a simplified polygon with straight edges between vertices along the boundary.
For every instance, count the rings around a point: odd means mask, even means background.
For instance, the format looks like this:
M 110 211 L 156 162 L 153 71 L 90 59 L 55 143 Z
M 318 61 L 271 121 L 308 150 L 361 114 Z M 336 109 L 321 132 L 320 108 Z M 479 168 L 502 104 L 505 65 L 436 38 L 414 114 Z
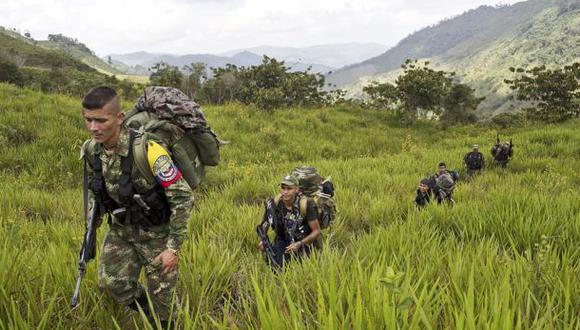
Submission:
M 192 189 L 203 181 L 205 166 L 219 163 L 220 140 L 207 126 L 199 105 L 176 88 L 147 87 L 124 124 L 163 141 Z M 135 163 L 141 173 L 149 173 L 147 140 L 135 145 Z

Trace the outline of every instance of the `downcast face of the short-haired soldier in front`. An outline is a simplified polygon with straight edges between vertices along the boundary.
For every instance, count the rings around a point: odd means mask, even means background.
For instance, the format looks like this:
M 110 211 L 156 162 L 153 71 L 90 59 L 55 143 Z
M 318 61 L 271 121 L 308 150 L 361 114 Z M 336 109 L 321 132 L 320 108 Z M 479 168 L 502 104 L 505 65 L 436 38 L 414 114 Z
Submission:
M 119 139 L 124 114 L 119 100 L 114 98 L 104 107 L 96 110 L 83 110 L 85 125 L 97 143 L 113 146 Z

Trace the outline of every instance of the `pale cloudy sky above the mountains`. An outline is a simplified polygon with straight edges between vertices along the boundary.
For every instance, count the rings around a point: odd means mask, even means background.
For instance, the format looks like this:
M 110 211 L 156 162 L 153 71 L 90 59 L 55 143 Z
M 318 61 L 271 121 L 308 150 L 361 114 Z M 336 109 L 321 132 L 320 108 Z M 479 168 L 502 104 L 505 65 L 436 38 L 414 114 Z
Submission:
M 520 0 L 0 0 L 0 25 L 62 33 L 99 55 L 219 53 L 260 45 L 395 45 L 481 5 Z

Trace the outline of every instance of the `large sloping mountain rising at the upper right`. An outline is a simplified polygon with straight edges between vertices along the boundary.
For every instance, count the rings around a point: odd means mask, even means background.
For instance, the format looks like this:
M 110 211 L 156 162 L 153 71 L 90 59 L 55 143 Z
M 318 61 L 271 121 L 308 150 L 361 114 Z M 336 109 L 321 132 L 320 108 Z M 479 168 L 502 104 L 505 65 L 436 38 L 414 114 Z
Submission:
M 428 59 L 457 72 L 479 95 L 481 110 L 507 110 L 510 66 L 562 66 L 580 61 L 580 2 L 529 0 L 512 6 L 482 6 L 427 27 L 384 54 L 337 70 L 327 80 L 360 95 L 371 80 L 394 80 L 407 58 Z

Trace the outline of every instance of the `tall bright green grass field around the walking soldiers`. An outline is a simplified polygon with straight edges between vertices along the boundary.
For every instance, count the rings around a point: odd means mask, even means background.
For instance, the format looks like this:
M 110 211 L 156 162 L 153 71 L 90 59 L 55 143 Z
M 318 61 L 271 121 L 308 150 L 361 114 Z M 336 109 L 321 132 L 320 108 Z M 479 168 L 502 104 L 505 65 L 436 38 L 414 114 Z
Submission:
M 128 109 L 131 102 L 125 102 Z M 515 159 L 418 212 L 418 181 L 461 169 L 492 128 L 400 127 L 348 108 L 273 114 L 205 108 L 232 143 L 196 192 L 183 248 L 181 324 L 192 328 L 580 327 L 580 122 L 502 131 Z M 0 329 L 143 328 L 97 290 L 70 309 L 83 234 L 80 100 L 0 84 Z M 280 177 L 330 175 L 339 216 L 324 251 L 273 274 L 254 226 Z M 99 231 L 99 242 L 106 228 Z

